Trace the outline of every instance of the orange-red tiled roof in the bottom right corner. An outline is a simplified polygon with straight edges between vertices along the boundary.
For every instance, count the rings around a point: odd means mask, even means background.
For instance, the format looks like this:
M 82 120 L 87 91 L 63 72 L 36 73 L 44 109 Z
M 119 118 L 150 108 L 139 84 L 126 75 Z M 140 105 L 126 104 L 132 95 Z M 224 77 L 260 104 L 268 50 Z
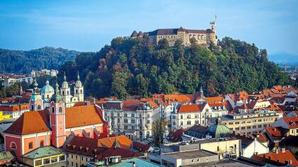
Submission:
M 258 154 L 253 155 L 252 159 L 257 161 L 267 161 L 268 163 L 282 163 L 282 164 L 289 164 L 289 161 L 292 161 L 290 166 L 298 166 L 298 161 L 294 157 L 294 155 L 289 150 L 285 150 L 285 152 L 278 152 L 278 153 L 266 153 L 266 154 Z M 287 161 L 287 162 L 286 162 Z

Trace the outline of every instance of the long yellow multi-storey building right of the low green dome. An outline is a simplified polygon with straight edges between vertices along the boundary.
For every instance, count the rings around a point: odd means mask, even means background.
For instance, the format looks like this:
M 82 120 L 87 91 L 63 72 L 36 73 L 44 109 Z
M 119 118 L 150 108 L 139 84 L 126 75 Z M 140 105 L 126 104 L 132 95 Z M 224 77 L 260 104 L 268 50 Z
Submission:
M 271 127 L 279 118 L 275 111 L 260 110 L 252 113 L 224 115 L 221 124 L 226 125 L 233 132 L 241 134 L 257 134 L 265 127 Z M 215 123 L 215 118 L 209 119 L 209 125 Z

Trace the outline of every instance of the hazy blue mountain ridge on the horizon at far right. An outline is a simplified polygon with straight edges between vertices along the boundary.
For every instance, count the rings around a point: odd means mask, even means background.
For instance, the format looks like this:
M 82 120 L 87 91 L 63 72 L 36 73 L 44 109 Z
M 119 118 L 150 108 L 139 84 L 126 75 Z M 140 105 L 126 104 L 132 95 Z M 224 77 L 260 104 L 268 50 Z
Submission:
M 268 59 L 276 64 L 298 64 L 298 54 L 290 54 L 285 51 L 269 54 Z

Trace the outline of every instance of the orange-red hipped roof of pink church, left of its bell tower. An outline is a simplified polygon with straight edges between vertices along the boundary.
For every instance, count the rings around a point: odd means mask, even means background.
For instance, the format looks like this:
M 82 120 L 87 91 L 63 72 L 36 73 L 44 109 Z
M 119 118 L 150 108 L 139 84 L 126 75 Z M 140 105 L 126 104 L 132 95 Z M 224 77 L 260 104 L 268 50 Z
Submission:
M 5 133 L 25 135 L 50 132 L 51 129 L 47 126 L 49 120 L 50 113 L 48 110 L 25 112 L 6 129 Z

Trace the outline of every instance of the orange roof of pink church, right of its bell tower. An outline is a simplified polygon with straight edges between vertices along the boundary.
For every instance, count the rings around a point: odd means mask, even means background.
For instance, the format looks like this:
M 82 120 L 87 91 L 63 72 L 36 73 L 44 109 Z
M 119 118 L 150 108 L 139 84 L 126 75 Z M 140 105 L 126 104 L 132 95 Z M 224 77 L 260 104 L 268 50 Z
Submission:
M 82 105 L 65 108 L 65 127 L 81 127 L 85 125 L 102 124 L 95 105 Z

